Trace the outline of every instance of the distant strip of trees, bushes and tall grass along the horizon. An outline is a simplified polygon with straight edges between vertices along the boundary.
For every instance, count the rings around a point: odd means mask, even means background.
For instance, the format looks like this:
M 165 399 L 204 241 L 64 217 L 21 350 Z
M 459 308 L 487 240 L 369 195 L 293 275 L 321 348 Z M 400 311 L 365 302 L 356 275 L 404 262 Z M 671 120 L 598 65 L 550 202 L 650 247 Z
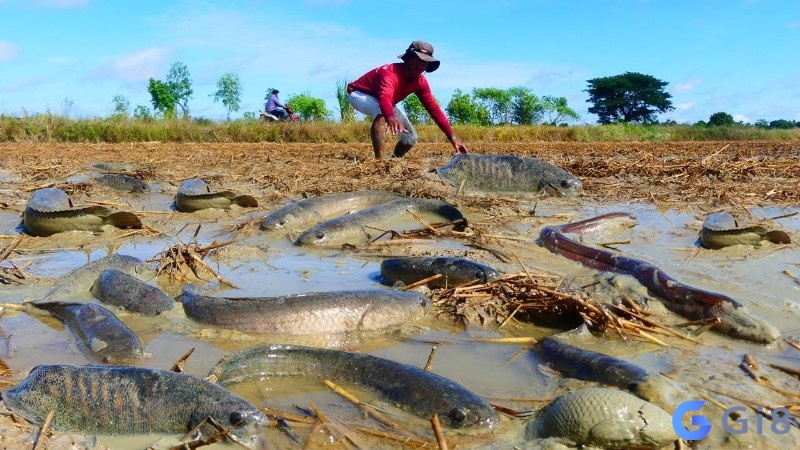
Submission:
M 220 123 L 190 115 L 191 76 L 184 64 L 174 62 L 164 80 L 149 80 L 152 109 L 137 105 L 131 111 L 130 102 L 115 95 L 108 117 L 72 118 L 74 103 L 65 99 L 62 114 L 0 115 L 0 141 L 369 142 L 369 123 L 350 105 L 347 83 L 336 83 L 337 113 L 327 110 L 323 99 L 304 92 L 285 100 L 300 122 L 265 122 L 258 118 L 259 111 L 247 111 L 231 120 L 231 113 L 240 109 L 242 86 L 239 76 L 228 72 L 209 94 L 225 108 L 227 120 Z M 587 83 L 585 92 L 593 104 L 589 111 L 599 117 L 599 125 L 578 124 L 580 116 L 565 97 L 537 96 L 524 86 L 474 88 L 471 92 L 457 89 L 443 110 L 465 142 L 800 140 L 800 122 L 760 119 L 749 124 L 736 122 L 723 111 L 693 125 L 659 123 L 656 115 L 674 108 L 671 95 L 664 90 L 668 83 L 650 75 L 625 72 Z M 267 89 L 265 100 L 272 89 Z M 400 106 L 418 125 L 423 142 L 444 142 L 415 95 Z

